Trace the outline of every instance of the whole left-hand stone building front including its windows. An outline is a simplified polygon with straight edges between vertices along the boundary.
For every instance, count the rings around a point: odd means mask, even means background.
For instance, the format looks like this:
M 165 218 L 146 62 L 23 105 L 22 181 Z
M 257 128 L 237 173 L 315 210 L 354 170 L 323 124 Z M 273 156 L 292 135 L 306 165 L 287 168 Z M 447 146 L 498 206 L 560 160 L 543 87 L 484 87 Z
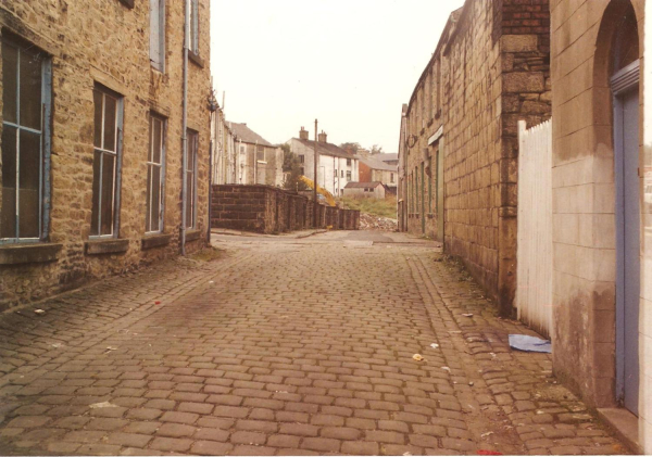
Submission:
M 205 244 L 209 4 L 0 4 L 0 309 Z

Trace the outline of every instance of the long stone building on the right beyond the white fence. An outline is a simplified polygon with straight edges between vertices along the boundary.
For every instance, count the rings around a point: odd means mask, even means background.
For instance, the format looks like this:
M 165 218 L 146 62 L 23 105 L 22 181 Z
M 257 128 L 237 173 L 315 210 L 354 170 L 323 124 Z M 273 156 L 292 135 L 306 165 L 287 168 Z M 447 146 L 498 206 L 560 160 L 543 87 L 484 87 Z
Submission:
M 548 0 L 467 0 L 402 123 L 399 220 L 444 242 L 513 313 L 517 122 L 550 117 Z

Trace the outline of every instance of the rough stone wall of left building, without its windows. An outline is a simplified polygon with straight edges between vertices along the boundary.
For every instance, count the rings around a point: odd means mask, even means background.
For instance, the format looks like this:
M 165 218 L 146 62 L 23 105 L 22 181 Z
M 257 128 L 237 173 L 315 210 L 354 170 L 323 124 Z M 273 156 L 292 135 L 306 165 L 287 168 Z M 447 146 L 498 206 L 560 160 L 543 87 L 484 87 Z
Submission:
M 52 60 L 50 236 L 42 244 L 61 245 L 49 263 L 0 265 L 0 309 L 179 253 L 184 9 L 180 1 L 166 3 L 164 74 L 153 71 L 149 61 L 149 2 L 137 1 L 133 9 L 118 0 L 0 4 L 2 34 L 21 37 Z M 187 244 L 189 252 L 204 245 L 208 230 L 209 4 L 209 0 L 200 0 L 200 55 L 189 64 L 188 127 L 199 132 L 199 232 L 189 233 L 195 240 Z M 120 239 L 126 240 L 126 251 L 103 255 L 89 255 L 86 246 L 91 219 L 96 82 L 124 97 Z M 151 247 L 143 250 L 148 243 L 145 214 L 150 112 L 167 119 L 164 237 L 158 240 L 161 244 L 150 243 Z M 8 246 L 0 249 L 7 251 Z

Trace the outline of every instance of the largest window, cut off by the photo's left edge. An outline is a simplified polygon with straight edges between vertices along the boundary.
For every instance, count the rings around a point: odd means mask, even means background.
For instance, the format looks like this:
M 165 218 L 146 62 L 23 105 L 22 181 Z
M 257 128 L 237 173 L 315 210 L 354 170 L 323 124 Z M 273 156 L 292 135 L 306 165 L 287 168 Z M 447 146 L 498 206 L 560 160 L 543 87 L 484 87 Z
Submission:
M 48 55 L 2 38 L 0 243 L 48 236 L 51 81 Z

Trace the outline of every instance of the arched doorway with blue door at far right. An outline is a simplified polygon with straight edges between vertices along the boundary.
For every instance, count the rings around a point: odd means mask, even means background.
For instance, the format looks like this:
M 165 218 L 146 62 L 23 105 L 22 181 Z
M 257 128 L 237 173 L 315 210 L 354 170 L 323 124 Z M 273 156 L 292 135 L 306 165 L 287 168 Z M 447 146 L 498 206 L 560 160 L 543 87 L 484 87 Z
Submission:
M 629 3 L 629 2 L 627 2 Z M 639 37 L 631 4 L 612 42 L 616 185 L 616 399 L 635 415 L 639 403 L 640 179 Z

